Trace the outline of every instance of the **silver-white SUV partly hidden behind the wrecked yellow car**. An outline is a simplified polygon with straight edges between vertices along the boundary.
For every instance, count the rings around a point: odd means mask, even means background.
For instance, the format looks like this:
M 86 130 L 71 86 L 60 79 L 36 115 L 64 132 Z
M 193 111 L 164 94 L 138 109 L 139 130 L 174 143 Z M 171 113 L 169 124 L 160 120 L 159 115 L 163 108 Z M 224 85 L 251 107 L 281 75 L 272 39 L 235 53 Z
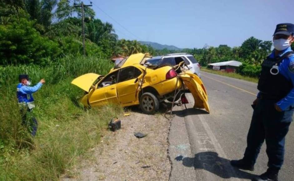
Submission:
M 178 65 L 180 62 L 184 61 L 189 67 L 190 71 L 201 78 L 200 74 L 200 64 L 194 58 L 194 56 L 187 53 L 173 53 L 167 54 L 165 56 L 155 56 L 148 59 L 147 62 L 155 65 L 169 64 L 172 66 Z M 185 67 L 187 68 L 187 67 Z

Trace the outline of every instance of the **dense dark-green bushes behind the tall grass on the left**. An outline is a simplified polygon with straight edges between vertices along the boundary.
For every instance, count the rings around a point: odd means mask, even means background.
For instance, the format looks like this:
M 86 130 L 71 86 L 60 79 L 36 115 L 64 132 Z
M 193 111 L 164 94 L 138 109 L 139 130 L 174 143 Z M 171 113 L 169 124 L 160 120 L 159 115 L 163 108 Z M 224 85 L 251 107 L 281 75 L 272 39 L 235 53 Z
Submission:
M 61 56 L 83 55 L 82 39 L 77 37 L 43 37 L 26 18 L 0 25 L 0 65 L 47 66 Z M 86 55 L 106 58 L 102 48 L 90 40 L 85 41 Z

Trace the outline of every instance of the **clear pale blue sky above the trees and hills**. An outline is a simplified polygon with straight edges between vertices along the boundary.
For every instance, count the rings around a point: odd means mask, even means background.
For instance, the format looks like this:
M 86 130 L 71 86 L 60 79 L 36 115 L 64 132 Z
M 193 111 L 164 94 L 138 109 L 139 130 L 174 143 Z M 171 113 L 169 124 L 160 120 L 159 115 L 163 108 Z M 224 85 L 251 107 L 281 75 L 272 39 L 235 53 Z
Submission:
M 103 22 L 112 23 L 120 39 L 139 39 L 180 48 L 202 48 L 205 44 L 241 46 L 242 42 L 251 36 L 272 40 L 278 23 L 294 23 L 293 0 L 92 2 L 96 17 Z M 89 0 L 84 0 L 84 3 L 89 4 Z

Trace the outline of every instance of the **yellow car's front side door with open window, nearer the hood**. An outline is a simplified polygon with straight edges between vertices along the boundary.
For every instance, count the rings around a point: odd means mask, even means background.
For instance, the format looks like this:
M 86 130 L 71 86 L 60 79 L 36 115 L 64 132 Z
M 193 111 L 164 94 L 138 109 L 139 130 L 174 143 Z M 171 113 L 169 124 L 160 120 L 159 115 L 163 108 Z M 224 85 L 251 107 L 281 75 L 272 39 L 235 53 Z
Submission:
M 109 103 L 119 103 L 117 99 L 117 79 L 118 70 L 105 76 L 99 81 L 96 90 L 89 96 L 91 106 L 106 105 Z

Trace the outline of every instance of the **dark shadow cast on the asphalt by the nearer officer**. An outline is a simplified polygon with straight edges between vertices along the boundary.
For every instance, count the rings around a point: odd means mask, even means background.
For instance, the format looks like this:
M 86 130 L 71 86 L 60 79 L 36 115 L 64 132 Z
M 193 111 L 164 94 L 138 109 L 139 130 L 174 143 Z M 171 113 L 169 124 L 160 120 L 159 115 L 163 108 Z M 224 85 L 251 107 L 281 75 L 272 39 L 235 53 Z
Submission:
M 223 179 L 252 179 L 256 176 L 232 167 L 230 160 L 221 158 L 216 152 L 212 151 L 197 153 L 194 158 L 177 156 L 175 160 L 182 161 L 182 164 L 186 167 L 207 170 Z

